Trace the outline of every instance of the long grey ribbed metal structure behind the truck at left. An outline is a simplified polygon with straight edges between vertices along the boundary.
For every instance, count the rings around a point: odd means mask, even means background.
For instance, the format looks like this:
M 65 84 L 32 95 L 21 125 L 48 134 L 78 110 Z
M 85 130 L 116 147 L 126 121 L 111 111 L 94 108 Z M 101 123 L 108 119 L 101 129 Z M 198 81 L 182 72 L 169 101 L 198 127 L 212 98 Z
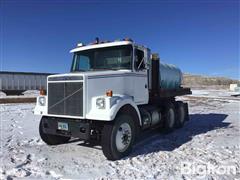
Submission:
M 50 73 L 0 71 L 0 91 L 6 95 L 20 95 L 26 90 L 40 90 L 47 87 Z

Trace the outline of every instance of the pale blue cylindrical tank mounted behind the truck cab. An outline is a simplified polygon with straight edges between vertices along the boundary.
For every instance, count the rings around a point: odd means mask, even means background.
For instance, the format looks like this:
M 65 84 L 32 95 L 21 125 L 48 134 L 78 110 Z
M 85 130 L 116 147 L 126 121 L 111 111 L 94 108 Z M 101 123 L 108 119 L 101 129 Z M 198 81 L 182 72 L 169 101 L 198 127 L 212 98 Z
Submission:
M 176 89 L 182 83 L 182 72 L 179 68 L 171 64 L 160 63 L 159 84 L 161 88 Z

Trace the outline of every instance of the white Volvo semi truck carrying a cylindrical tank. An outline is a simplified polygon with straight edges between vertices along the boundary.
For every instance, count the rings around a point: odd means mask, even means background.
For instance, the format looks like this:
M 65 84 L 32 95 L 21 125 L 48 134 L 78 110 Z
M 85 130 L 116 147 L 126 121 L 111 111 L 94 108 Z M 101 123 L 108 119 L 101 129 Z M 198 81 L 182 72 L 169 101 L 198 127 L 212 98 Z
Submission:
M 109 160 L 128 155 L 139 133 L 163 127 L 170 132 L 189 119 L 188 105 L 176 96 L 182 73 L 160 63 L 157 54 L 131 39 L 78 46 L 71 72 L 50 75 L 37 98 L 39 133 L 48 145 L 70 138 L 99 142 Z

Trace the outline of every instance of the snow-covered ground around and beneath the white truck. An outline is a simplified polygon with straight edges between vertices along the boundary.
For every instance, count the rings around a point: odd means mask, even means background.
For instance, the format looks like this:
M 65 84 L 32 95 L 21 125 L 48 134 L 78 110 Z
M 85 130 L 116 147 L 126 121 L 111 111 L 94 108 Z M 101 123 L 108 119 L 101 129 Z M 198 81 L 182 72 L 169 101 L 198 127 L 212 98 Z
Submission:
M 189 102 L 190 121 L 183 128 L 145 132 L 132 154 L 115 162 L 105 159 L 101 147 L 81 141 L 47 146 L 38 135 L 34 104 L 1 104 L 0 179 L 239 179 L 240 99 L 225 90 L 179 99 Z M 196 170 L 210 165 L 218 171 Z M 221 175 L 226 167 L 231 171 Z

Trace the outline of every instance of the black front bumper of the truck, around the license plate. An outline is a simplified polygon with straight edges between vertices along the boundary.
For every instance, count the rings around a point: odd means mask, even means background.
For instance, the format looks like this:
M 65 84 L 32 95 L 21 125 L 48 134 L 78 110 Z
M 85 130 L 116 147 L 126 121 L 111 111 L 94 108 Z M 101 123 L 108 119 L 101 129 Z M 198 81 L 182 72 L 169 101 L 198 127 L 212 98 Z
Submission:
M 68 131 L 59 130 L 58 122 L 67 123 Z M 75 137 L 81 140 L 90 139 L 90 123 L 86 120 L 43 117 L 42 128 L 43 128 L 43 132 L 46 134 Z

